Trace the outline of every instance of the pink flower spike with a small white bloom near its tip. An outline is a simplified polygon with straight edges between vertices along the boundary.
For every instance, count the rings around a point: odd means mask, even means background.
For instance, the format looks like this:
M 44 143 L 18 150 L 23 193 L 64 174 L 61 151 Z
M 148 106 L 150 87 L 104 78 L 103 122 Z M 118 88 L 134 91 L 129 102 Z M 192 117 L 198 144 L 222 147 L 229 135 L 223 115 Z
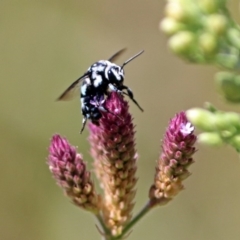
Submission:
M 176 114 L 166 130 L 154 184 L 149 190 L 152 206 L 167 203 L 183 189 L 182 181 L 190 175 L 188 167 L 193 163 L 196 140 L 194 126 L 185 112 Z

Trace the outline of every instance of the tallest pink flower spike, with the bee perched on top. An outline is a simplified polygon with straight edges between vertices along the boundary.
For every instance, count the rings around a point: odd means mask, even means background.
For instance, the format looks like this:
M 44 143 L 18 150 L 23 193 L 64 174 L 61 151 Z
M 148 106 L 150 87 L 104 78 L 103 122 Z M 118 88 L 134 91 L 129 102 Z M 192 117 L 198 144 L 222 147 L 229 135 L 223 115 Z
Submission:
M 121 234 L 132 216 L 137 153 L 134 126 L 128 103 L 111 92 L 99 125 L 89 124 L 91 154 L 96 175 L 104 190 L 103 218 L 112 235 Z

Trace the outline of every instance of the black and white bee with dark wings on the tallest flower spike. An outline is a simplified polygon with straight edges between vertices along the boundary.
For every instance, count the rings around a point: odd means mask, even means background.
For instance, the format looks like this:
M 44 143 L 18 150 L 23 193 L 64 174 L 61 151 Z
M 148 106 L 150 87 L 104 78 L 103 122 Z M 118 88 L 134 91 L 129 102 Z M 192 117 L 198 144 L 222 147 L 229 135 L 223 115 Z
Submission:
M 118 51 L 108 60 L 95 62 L 88 68 L 86 73 L 74 81 L 57 99 L 63 101 L 70 100 L 75 89 L 79 88 L 81 85 L 80 99 L 83 122 L 80 133 L 83 132 L 88 119 L 94 124 L 98 124 L 98 120 L 102 116 L 101 112 L 108 112 L 115 115 L 104 107 L 105 98 L 110 91 L 116 91 L 127 95 L 139 107 L 139 109 L 143 111 L 134 99 L 131 89 L 123 84 L 124 66 L 142 54 L 143 51 L 128 59 L 122 66 L 113 63 L 113 61 L 115 61 L 124 51 L 125 49 Z M 126 92 L 124 92 L 124 90 L 126 90 Z

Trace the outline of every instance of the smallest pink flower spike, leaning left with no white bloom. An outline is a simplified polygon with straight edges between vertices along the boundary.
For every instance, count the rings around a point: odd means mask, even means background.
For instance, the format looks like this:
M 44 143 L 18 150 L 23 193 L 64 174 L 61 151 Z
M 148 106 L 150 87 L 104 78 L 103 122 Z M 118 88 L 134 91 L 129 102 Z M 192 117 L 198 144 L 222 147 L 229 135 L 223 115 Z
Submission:
M 48 165 L 57 184 L 73 203 L 85 210 L 98 213 L 100 197 L 95 193 L 90 172 L 87 171 L 82 156 L 67 139 L 58 134 L 51 140 Z

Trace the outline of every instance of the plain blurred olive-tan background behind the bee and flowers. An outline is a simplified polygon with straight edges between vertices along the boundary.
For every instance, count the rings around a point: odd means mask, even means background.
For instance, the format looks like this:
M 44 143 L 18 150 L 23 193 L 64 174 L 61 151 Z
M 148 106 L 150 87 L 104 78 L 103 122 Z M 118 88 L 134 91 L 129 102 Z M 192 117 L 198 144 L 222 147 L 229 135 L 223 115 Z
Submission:
M 216 68 L 184 63 L 170 52 L 159 31 L 163 15 L 164 1 L 1 0 L 1 240 L 100 239 L 93 217 L 63 196 L 46 165 L 49 139 L 58 132 L 91 168 L 88 131 L 78 133 L 78 98 L 54 100 L 94 61 L 127 47 L 121 64 L 145 50 L 125 68 L 125 83 L 145 109 L 130 103 L 140 155 L 135 212 L 146 202 L 160 139 L 176 112 L 205 101 L 239 110 L 216 94 Z M 198 148 L 186 190 L 142 219 L 129 240 L 239 240 L 239 157 L 230 147 Z

